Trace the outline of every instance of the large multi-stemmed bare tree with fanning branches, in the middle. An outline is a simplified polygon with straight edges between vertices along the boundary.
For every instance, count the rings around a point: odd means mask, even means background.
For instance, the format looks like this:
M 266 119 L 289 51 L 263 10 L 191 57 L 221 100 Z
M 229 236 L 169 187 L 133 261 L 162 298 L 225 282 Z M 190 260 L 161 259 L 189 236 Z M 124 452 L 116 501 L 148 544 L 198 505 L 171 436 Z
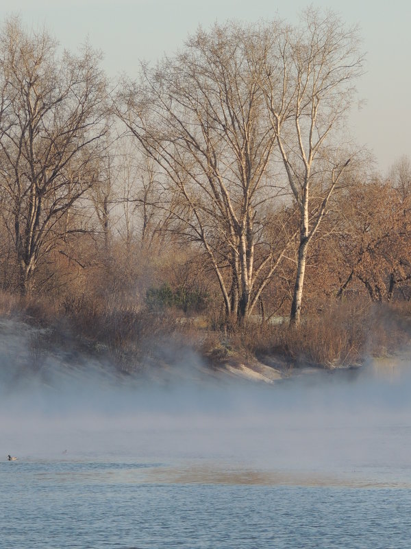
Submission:
M 270 29 L 271 30 L 271 29 Z M 273 185 L 275 129 L 258 75 L 269 30 L 234 23 L 199 30 L 175 58 L 143 67 L 118 112 L 158 166 L 173 207 L 173 230 L 199 242 L 216 274 L 228 317 L 249 316 L 287 246 L 266 238 L 263 205 Z

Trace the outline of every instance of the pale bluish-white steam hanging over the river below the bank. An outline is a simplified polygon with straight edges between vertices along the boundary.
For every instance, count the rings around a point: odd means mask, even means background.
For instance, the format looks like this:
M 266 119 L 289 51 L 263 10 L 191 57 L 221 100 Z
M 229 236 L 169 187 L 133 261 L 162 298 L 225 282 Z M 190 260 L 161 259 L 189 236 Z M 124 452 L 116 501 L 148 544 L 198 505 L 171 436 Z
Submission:
M 263 471 L 273 482 L 285 475 L 303 482 L 308 471 L 316 478 L 360 475 L 375 484 L 411 484 L 405 355 L 378 368 L 370 360 L 359 371 L 295 376 L 270 386 L 212 375 L 188 351 L 168 370 L 136 377 L 120 377 L 84 356 L 45 353 L 33 374 L 32 329 L 5 323 L 2 331 L 4 458 L 154 460 L 162 464 L 155 478 L 173 482 L 204 475 L 218 482 L 229 470 L 245 478 L 238 471 L 247 470 L 248 478 Z

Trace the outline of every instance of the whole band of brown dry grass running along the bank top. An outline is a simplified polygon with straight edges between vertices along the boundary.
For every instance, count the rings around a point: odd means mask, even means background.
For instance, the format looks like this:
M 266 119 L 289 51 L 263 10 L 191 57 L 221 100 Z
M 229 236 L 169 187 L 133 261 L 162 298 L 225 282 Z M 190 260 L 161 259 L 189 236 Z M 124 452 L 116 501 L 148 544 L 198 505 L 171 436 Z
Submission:
M 393 353 L 410 340 L 411 307 L 345 303 L 307 316 L 299 328 L 288 323 L 254 322 L 223 325 L 217 315 L 208 319 L 178 316 L 173 309 L 161 314 L 131 303 L 77 295 L 60 303 L 22 299 L 0 293 L 0 315 L 13 316 L 46 327 L 35 347 L 103 354 L 122 371 L 162 360 L 164 349 L 194 347 L 212 362 L 232 353 L 245 357 L 277 356 L 287 364 L 315 364 L 332 368 L 362 362 L 367 355 Z M 211 329 L 210 329 L 211 326 Z

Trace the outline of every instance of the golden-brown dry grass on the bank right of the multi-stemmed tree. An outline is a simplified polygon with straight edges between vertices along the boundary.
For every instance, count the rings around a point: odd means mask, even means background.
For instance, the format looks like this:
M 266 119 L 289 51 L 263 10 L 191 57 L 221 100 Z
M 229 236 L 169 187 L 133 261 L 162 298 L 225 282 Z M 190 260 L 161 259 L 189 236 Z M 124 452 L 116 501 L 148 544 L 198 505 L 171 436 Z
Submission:
M 411 336 L 410 314 L 404 307 L 350 303 L 305 318 L 299 328 L 288 323 L 245 325 L 221 333 L 216 349 L 243 349 L 253 355 L 277 355 L 295 365 L 326 368 L 362 362 L 366 355 L 393 353 Z

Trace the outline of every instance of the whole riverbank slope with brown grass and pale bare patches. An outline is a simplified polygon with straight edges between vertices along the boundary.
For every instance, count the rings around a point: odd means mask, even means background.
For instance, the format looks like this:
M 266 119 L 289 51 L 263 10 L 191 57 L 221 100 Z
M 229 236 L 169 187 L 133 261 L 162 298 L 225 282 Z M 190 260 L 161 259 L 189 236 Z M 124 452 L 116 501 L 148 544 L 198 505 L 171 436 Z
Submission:
M 13 304 L 3 307 L 0 321 L 9 382 L 40 375 L 48 383 L 55 375 L 81 372 L 110 383 L 129 382 L 132 376 L 161 383 L 231 379 L 275 384 L 323 371 L 356 370 L 370 357 L 390 357 L 390 364 L 396 351 L 410 346 L 410 316 L 398 307 L 339 307 L 306 318 L 297 330 L 256 322 L 211 329 L 204 318 L 183 321 L 170 312 L 87 310 L 79 318 L 51 314 L 40 303 Z

